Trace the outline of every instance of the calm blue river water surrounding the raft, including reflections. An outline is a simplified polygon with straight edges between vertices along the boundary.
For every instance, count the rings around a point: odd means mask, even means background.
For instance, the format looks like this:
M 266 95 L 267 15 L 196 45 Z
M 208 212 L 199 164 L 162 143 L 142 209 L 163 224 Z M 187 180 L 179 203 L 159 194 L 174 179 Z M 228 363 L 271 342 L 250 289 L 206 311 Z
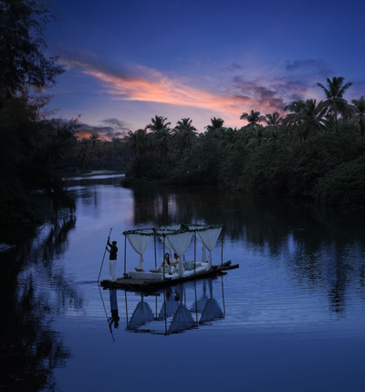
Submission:
M 119 181 L 68 180 L 75 216 L 2 234 L 17 244 L 0 254 L 2 390 L 363 390 L 363 213 Z M 223 223 L 223 259 L 239 269 L 148 296 L 99 289 L 110 228 L 121 275 L 123 230 L 182 222 Z M 152 242 L 144 260 L 154 266 Z M 130 245 L 127 264 L 139 264 Z

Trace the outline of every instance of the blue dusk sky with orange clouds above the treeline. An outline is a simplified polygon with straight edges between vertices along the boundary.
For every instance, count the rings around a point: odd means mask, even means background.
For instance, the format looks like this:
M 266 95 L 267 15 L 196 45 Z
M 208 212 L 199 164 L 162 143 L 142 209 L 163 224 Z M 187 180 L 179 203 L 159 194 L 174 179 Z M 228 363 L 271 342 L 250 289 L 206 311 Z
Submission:
M 242 127 L 244 112 L 325 99 L 317 83 L 365 95 L 363 0 L 59 0 L 47 56 L 66 72 L 49 109 L 79 117 L 80 137 L 123 137 L 155 115 L 204 132 L 211 118 Z

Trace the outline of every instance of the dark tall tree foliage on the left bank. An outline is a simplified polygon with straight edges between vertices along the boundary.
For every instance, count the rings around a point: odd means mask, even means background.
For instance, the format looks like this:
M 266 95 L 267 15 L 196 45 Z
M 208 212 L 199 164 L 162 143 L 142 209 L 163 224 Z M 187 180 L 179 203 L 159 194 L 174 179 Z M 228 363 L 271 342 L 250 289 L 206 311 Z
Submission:
M 0 1 L 0 221 L 2 225 L 35 223 L 41 217 L 36 193 L 54 206 L 73 207 L 55 167 L 74 142 L 75 123 L 47 120 L 49 97 L 34 96 L 63 72 L 46 58 L 45 28 L 57 18 L 49 2 Z

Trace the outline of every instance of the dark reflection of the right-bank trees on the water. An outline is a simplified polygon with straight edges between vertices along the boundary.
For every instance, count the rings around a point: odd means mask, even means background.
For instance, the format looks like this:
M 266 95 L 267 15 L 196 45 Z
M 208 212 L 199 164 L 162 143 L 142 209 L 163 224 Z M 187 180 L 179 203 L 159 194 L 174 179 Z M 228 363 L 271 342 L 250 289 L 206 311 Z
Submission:
M 349 284 L 359 281 L 365 289 L 364 213 L 342 214 L 308 200 L 214 188 L 133 192 L 135 227 L 223 223 L 225 240 L 243 241 L 247 247 L 268 251 L 270 257 L 285 255 L 293 279 L 309 286 L 324 285 L 336 312 L 344 309 Z

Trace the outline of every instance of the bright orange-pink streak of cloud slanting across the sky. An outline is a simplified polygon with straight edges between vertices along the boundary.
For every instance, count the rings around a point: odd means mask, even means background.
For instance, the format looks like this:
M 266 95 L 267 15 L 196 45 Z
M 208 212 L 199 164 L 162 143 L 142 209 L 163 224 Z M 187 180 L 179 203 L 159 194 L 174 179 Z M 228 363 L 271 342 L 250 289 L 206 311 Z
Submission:
M 227 126 L 244 125 L 239 120 L 244 111 L 254 109 L 266 113 L 280 111 L 278 107 L 283 106 L 282 101 L 274 96 L 262 99 L 263 93 L 257 89 L 255 83 L 238 89 L 237 94 L 222 93 L 194 88 L 185 80 L 171 79 L 157 70 L 141 66 L 134 68 L 138 75 L 131 75 L 88 60 L 71 60 L 68 65 L 80 67 L 85 74 L 101 80 L 107 92 L 116 100 L 151 101 L 209 110 L 213 116 L 224 118 Z

